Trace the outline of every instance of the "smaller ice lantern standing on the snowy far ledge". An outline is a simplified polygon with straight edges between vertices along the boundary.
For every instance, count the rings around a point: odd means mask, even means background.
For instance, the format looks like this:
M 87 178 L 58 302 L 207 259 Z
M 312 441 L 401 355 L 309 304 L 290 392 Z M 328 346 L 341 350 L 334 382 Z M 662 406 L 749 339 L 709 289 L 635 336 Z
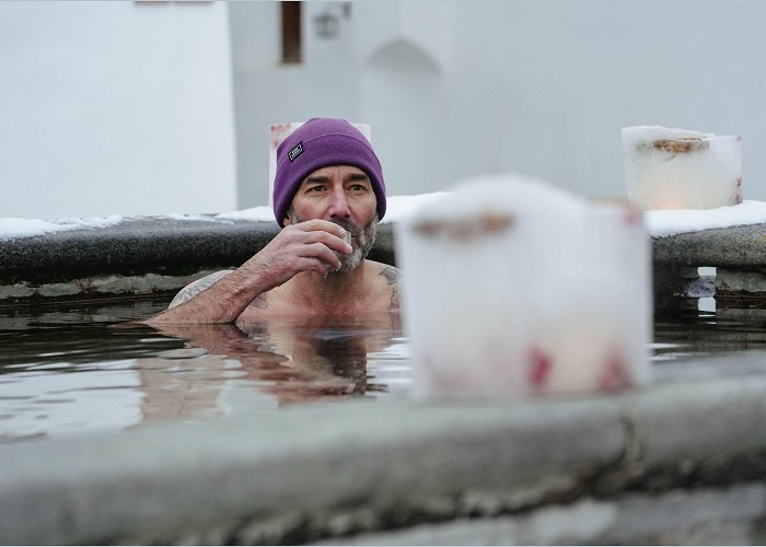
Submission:
M 628 200 L 643 210 L 741 203 L 741 140 L 661 126 L 623 128 Z

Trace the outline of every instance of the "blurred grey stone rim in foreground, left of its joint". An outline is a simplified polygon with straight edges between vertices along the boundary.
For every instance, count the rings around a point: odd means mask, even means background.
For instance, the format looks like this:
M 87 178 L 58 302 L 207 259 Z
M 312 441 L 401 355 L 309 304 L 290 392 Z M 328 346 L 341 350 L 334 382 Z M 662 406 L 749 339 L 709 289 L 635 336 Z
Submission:
M 616 461 L 623 444 L 614 401 L 596 398 L 359 401 L 10 445 L 0 467 L 0 543 L 206 543 L 211 533 L 253 534 L 254 523 L 297 512 L 360 508 L 398 522 L 398 512 L 429 514 L 429 500 L 454 504 L 466 491 L 525 504 L 576 488 Z

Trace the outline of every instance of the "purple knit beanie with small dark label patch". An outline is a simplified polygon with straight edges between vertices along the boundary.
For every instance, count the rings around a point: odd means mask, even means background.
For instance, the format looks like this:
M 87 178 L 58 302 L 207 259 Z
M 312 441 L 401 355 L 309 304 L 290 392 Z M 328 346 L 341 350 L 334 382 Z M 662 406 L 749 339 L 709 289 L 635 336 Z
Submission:
M 378 198 L 378 218 L 385 214 L 385 183 L 381 162 L 370 142 L 345 119 L 311 118 L 277 148 L 274 216 L 280 226 L 303 179 L 328 165 L 352 165 L 370 177 Z

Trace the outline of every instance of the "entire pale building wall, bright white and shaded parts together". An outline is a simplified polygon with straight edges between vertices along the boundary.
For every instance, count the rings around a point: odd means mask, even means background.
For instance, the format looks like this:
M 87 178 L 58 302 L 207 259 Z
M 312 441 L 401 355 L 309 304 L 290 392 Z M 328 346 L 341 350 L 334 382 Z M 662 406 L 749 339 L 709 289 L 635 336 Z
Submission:
M 318 37 L 343 4 L 282 66 L 278 2 L 0 2 L 0 217 L 265 205 L 270 124 L 313 116 L 370 124 L 391 194 L 624 196 L 619 129 L 659 124 L 742 135 L 766 200 L 766 2 L 356 1 Z

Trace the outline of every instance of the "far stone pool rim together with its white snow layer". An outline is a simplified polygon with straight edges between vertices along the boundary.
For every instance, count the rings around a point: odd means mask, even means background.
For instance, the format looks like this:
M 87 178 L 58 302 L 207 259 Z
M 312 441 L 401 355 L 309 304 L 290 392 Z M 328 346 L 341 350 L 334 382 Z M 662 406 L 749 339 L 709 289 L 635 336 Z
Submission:
M 395 264 L 394 225 L 443 195 L 390 197 L 371 258 Z M 766 291 L 766 277 L 759 277 L 766 270 L 765 202 L 647 211 L 645 221 L 655 293 L 684 292 L 703 266 L 719 268 L 726 280 L 721 292 Z M 278 230 L 268 207 L 220 214 L 0 219 L 0 302 L 176 291 L 211 270 L 239 266 Z

